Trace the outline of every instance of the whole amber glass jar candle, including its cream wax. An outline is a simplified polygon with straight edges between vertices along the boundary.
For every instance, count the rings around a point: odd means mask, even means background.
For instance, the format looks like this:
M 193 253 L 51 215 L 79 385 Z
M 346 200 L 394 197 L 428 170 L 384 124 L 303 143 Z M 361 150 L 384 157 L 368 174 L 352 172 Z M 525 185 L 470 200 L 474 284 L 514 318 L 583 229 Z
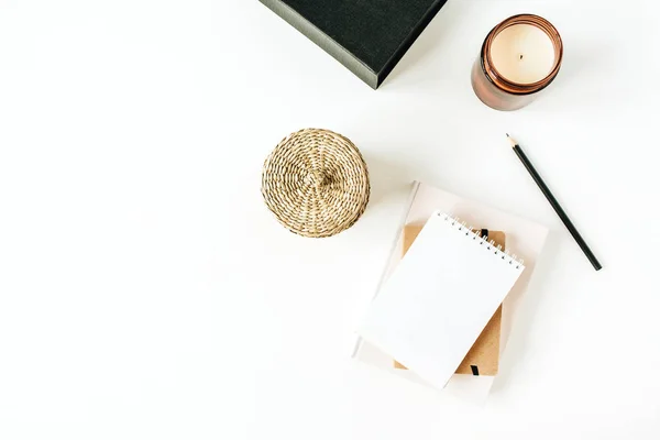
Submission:
M 562 56 L 561 36 L 548 20 L 510 16 L 486 35 L 472 67 L 472 88 L 495 110 L 520 109 L 554 80 Z

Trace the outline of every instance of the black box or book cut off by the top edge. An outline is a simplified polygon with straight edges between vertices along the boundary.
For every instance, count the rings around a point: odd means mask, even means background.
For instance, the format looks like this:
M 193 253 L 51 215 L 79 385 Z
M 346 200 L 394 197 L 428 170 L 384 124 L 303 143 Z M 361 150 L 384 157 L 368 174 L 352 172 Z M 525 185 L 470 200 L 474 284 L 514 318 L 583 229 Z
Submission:
M 260 0 L 374 89 L 447 0 Z

